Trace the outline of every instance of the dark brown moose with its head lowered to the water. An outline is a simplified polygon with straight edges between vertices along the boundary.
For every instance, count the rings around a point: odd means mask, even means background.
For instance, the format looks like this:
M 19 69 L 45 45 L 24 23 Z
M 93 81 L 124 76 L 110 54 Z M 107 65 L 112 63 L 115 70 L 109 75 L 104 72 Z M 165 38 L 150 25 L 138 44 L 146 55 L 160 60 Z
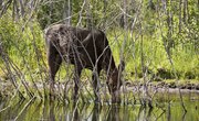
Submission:
M 104 69 L 107 74 L 106 84 L 112 96 L 112 102 L 119 102 L 121 76 L 125 64 L 121 61 L 118 68 L 116 67 L 104 32 L 95 29 L 86 30 L 66 24 L 55 24 L 45 30 L 45 43 L 51 89 L 54 88 L 55 74 L 61 63 L 65 61 L 74 65 L 74 99 L 77 98 L 81 72 L 87 68 L 93 72 L 92 84 L 95 101 L 100 101 L 97 82 L 98 75 Z

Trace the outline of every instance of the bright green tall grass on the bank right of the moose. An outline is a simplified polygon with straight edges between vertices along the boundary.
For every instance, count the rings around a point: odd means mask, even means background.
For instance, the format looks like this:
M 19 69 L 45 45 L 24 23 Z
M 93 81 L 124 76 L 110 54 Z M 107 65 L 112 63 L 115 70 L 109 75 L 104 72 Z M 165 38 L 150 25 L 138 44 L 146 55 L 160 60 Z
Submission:
M 168 55 L 165 51 L 161 37 L 156 35 L 143 35 L 143 48 L 142 37 L 133 41 L 130 33 L 126 32 L 126 45 L 124 51 L 124 59 L 126 63 L 127 78 L 135 80 L 135 73 L 142 78 L 142 50 L 144 56 L 144 65 L 148 68 L 149 74 L 153 75 L 170 75 L 163 79 L 174 79 L 177 75 L 178 79 L 199 79 L 199 55 L 196 51 L 191 50 L 193 45 L 182 44 L 176 45 L 170 48 L 172 64 L 168 59 Z M 117 30 L 107 33 L 108 40 L 112 43 L 111 47 L 115 57 L 115 62 L 119 63 L 119 52 L 122 43 L 124 41 L 125 31 Z M 135 36 L 133 34 L 133 36 Z M 117 36 L 117 37 L 115 37 Z M 134 46 L 133 46 L 134 45 Z M 165 70 L 167 74 L 161 74 L 159 69 Z M 158 73 L 159 72 L 159 73 Z

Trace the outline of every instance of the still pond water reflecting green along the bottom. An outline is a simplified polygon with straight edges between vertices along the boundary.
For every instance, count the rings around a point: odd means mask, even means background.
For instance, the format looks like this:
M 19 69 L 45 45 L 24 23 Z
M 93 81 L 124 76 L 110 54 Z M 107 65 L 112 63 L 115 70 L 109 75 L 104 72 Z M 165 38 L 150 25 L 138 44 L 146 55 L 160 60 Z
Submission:
M 158 96 L 158 97 L 161 97 Z M 164 97 L 164 96 L 163 96 Z M 154 108 L 144 108 L 137 101 L 128 105 L 67 103 L 59 101 L 0 101 L 0 121 L 199 121 L 198 95 L 179 99 L 154 99 Z M 176 95 L 176 97 L 179 97 Z

